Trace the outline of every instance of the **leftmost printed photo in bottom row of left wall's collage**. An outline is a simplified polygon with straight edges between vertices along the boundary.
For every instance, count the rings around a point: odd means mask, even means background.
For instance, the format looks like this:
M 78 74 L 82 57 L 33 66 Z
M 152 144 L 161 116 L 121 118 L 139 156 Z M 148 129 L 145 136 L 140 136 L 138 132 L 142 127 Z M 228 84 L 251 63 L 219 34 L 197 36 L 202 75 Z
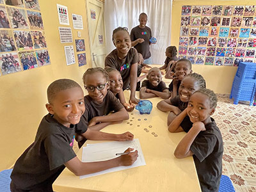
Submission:
M 0 66 L 3 75 L 21 71 L 17 52 L 0 54 Z

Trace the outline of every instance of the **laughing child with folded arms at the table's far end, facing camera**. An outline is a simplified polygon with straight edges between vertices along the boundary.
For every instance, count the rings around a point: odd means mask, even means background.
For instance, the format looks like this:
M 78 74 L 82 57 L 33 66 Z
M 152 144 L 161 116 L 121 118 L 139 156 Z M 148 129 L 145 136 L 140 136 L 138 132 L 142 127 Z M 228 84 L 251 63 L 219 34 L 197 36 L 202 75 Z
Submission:
M 167 99 L 170 97 L 170 92 L 166 88 L 166 84 L 162 81 L 162 74 L 159 68 L 150 68 L 147 75 L 147 80 L 144 80 L 140 88 L 140 99 L 152 97 L 161 97 Z

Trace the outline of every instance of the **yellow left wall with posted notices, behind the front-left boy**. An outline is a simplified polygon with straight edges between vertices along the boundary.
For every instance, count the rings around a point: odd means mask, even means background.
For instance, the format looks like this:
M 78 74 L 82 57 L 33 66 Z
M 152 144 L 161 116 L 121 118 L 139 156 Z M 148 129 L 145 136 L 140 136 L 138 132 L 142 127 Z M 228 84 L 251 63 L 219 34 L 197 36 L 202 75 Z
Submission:
M 64 46 L 74 45 L 75 48 L 75 43 L 60 43 L 58 26 L 62 25 L 58 20 L 57 3 L 68 7 L 70 26 L 66 27 L 72 28 L 73 40 L 78 38 L 77 31 L 81 31 L 81 38 L 86 44 L 86 66 L 78 67 L 76 50 L 76 64 L 66 64 Z M 38 124 L 47 114 L 47 86 L 60 78 L 74 79 L 83 85 L 83 72 L 91 63 L 85 1 L 39 0 L 39 4 L 51 65 L 0 77 L 0 170 L 10 168 L 33 142 Z M 83 30 L 73 29 L 72 13 L 83 15 Z

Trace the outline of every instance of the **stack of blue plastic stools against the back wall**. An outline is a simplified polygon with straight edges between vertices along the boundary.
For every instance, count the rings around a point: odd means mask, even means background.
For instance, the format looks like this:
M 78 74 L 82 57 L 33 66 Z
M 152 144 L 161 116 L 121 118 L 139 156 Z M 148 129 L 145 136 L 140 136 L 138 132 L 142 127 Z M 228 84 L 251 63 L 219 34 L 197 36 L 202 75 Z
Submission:
M 250 101 L 253 104 L 256 92 L 256 63 L 240 62 L 233 81 L 230 99 L 234 98 L 234 104 L 239 100 Z

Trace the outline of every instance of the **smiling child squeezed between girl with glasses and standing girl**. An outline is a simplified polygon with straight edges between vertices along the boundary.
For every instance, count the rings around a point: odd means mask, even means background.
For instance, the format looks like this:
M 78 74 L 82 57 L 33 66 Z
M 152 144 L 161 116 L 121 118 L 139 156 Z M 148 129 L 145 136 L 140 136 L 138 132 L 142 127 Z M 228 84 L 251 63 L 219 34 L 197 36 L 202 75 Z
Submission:
M 120 100 L 126 111 L 133 111 L 134 104 L 128 104 L 125 101 L 123 92 L 123 80 L 120 72 L 116 68 L 106 67 L 109 76 L 109 90 Z

